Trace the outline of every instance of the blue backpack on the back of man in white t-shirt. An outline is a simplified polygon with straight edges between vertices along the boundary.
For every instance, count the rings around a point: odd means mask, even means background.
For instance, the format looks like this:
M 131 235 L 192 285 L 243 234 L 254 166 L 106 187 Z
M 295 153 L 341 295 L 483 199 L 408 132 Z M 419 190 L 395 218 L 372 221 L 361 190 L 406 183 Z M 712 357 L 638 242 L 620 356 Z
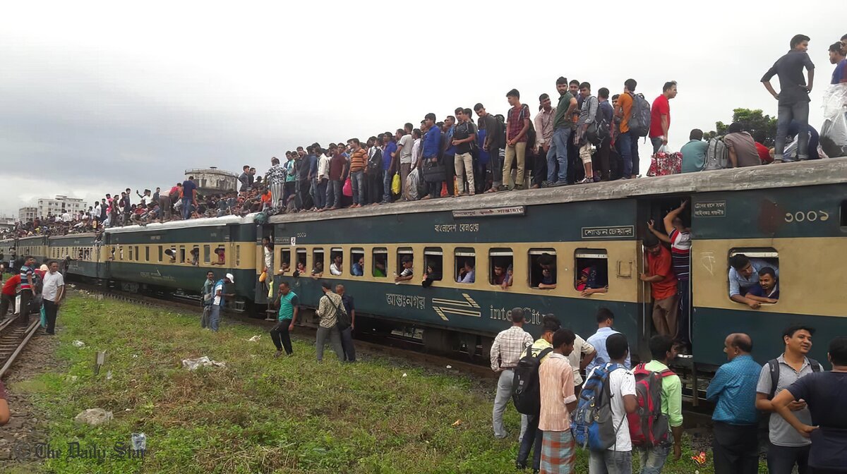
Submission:
M 614 363 L 596 367 L 579 393 L 571 431 L 576 444 L 583 449 L 603 451 L 615 445 L 617 430 L 626 417 L 621 419 L 617 427 L 614 426 L 609 374 L 619 368 L 623 367 Z

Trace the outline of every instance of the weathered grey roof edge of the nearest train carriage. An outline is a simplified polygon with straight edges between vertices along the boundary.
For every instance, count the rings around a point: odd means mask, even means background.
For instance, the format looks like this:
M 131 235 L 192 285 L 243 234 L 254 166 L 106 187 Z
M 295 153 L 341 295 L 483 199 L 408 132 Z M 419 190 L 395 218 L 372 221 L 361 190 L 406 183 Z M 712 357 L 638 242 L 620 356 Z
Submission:
M 318 221 L 326 218 L 360 218 L 412 212 L 490 209 L 711 191 L 832 185 L 845 182 L 847 182 L 847 158 L 827 158 L 811 162 L 720 169 L 653 178 L 623 179 L 592 185 L 499 192 L 455 199 L 396 202 L 390 206 L 366 206 L 326 212 L 298 212 L 296 214 L 272 216 L 268 220 L 270 223 L 289 223 Z

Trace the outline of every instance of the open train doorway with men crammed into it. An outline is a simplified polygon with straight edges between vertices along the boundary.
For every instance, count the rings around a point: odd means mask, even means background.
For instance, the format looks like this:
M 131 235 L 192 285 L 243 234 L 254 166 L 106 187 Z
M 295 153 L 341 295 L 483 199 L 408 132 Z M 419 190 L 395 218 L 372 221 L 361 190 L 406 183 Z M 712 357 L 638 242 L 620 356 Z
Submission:
M 652 234 L 660 244 L 667 249 L 671 255 L 671 272 L 677 278 L 677 295 L 675 303 L 671 308 L 660 308 L 656 311 L 654 320 L 654 298 L 652 296 L 652 285 L 640 281 L 639 293 L 642 298 L 641 330 L 639 331 L 642 342 L 656 333 L 659 333 L 657 323 L 662 324 L 662 332 L 665 326 L 672 332 L 674 339 L 684 343 L 690 349 L 691 341 L 691 280 L 689 278 L 691 236 L 696 229 L 691 226 L 691 204 L 688 195 L 655 196 L 645 199 L 639 203 L 638 238 L 640 240 L 639 251 L 641 256 L 641 269 L 639 273 L 650 273 L 648 265 L 648 251 L 644 240 L 647 235 Z M 651 228 L 650 228 L 651 224 Z M 672 242 L 673 237 L 673 242 Z M 651 238 L 650 238 L 651 239 Z M 662 320 L 664 311 L 675 311 L 675 320 Z M 642 344 L 641 347 L 646 347 Z M 689 352 L 690 353 L 690 352 Z

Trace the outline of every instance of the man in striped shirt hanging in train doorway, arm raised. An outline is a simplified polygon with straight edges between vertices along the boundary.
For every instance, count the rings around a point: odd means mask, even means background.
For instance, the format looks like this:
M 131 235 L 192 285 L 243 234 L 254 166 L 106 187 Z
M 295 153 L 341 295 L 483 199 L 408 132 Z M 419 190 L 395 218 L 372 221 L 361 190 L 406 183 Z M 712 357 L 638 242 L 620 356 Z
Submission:
M 667 235 L 653 229 L 653 221 L 650 221 L 649 229 L 659 240 L 671 245 L 671 265 L 673 266 L 673 274 L 677 276 L 678 280 L 679 320 L 676 339 L 689 346 L 691 344 L 689 329 L 691 318 L 691 289 L 689 287 L 691 229 L 685 227 L 683 219 L 680 217 L 685 205 L 686 201 L 682 201 L 679 207 L 668 212 L 667 216 L 662 219 Z

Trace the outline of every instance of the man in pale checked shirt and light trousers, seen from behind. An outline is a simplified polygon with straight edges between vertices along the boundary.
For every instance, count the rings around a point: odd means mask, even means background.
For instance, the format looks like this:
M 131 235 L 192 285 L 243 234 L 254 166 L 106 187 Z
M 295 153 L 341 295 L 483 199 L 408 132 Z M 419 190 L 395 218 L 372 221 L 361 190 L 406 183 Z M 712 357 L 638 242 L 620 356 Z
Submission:
M 494 344 L 491 344 L 491 370 L 500 373 L 494 399 L 494 411 L 491 414 L 495 438 L 507 437 L 506 429 L 503 428 L 503 412 L 506 411 L 506 405 L 512 399 L 514 368 L 518 366 L 518 361 L 526 348 L 533 343 L 532 335 L 523 330 L 523 309 L 512 308 L 510 317 L 512 327 L 497 334 Z M 527 416 L 522 415 L 520 438 L 523 438 L 528 424 Z

